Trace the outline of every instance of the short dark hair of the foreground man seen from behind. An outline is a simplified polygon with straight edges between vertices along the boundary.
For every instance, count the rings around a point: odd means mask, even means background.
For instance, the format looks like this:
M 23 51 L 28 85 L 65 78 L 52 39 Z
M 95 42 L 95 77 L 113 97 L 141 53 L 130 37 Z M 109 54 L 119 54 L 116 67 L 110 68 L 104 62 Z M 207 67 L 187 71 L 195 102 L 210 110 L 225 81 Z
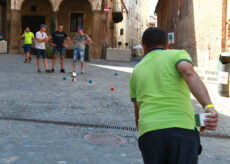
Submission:
M 147 48 L 153 48 L 156 46 L 165 46 L 168 42 L 168 37 L 166 33 L 159 29 L 150 27 L 145 30 L 142 36 L 142 44 L 144 44 Z

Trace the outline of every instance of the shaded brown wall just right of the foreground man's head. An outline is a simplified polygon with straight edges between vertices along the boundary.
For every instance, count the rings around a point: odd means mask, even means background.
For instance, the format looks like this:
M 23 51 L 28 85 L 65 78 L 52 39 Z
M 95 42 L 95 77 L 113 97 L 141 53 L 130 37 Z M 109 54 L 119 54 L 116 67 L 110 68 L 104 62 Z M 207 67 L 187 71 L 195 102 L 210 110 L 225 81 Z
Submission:
M 158 6 L 158 26 L 168 32 L 174 32 L 175 44 L 170 48 L 185 49 L 197 65 L 196 38 L 194 30 L 193 1 L 164 0 Z

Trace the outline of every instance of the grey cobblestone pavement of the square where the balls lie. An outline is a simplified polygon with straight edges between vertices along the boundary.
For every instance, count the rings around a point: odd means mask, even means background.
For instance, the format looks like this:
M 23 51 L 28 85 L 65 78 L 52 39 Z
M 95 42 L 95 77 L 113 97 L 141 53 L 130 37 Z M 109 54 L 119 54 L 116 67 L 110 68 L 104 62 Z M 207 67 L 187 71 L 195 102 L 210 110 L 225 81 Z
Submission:
M 38 74 L 35 60 L 32 64 L 23 60 L 22 55 L 0 55 L 0 117 L 134 127 L 128 81 L 136 62 L 92 61 L 86 64 L 86 74 L 72 82 L 69 73 L 59 73 L 59 63 L 56 73 Z M 71 64 L 66 59 L 67 72 Z M 216 86 L 207 83 L 220 114 L 214 133 L 230 135 L 230 99 L 219 97 Z M 115 90 L 111 92 L 111 88 Z M 196 112 L 201 112 L 192 99 Z M 0 131 L 0 164 L 143 163 L 137 134 L 131 131 L 6 120 L 0 120 Z M 120 136 L 126 143 L 105 145 L 85 140 L 85 135 L 94 133 Z M 202 138 L 202 144 L 201 164 L 230 163 L 230 140 Z

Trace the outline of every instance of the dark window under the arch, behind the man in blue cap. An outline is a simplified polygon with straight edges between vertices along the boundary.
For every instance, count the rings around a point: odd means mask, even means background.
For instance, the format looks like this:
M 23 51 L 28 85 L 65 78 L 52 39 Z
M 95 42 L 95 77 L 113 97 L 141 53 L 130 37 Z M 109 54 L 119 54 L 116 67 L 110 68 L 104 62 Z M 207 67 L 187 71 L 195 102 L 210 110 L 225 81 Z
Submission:
M 84 14 L 83 13 L 71 13 L 70 16 L 70 32 L 76 32 L 78 26 L 83 26 Z

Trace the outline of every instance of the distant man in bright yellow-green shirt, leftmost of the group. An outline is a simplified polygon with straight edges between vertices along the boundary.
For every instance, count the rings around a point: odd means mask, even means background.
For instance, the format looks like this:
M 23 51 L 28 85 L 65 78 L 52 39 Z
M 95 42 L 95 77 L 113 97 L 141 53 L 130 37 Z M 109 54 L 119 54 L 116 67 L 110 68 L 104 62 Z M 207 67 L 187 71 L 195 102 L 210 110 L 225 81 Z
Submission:
M 31 62 L 32 61 L 32 58 L 30 57 L 31 45 L 32 45 L 33 41 L 35 41 L 35 38 L 34 38 L 34 34 L 32 32 L 30 32 L 29 27 L 26 27 L 21 38 L 24 38 L 24 52 L 26 55 L 26 59 L 25 59 L 24 63 Z

